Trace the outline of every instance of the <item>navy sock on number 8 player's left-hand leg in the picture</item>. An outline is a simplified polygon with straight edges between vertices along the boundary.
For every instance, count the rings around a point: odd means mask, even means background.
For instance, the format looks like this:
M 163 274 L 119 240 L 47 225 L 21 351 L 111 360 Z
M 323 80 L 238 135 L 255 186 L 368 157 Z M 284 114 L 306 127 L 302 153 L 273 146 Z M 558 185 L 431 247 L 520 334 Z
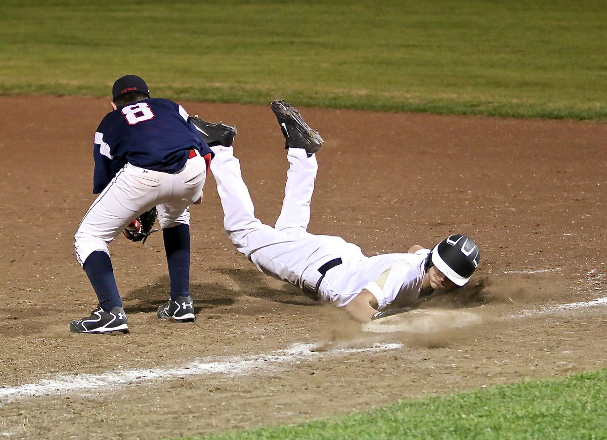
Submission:
M 112 261 L 103 250 L 91 253 L 83 265 L 84 272 L 89 277 L 90 284 L 97 294 L 101 308 L 109 312 L 115 307 L 122 307 L 118 287 L 114 278 Z

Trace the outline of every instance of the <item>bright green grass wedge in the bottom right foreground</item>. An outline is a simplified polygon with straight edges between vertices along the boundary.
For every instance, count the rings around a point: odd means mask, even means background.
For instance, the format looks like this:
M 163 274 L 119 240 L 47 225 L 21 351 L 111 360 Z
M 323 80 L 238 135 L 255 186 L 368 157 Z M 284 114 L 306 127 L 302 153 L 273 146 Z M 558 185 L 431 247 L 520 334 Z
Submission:
M 607 369 L 448 396 L 403 400 L 348 417 L 226 432 L 206 440 L 605 439 Z

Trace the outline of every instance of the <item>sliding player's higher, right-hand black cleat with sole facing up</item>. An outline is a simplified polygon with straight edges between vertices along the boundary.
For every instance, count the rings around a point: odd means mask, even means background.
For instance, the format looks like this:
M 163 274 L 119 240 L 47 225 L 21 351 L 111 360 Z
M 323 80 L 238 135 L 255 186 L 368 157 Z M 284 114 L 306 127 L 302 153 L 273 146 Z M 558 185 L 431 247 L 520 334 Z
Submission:
M 287 148 L 303 148 L 308 155 L 316 153 L 325 142 L 317 130 L 311 129 L 302 119 L 299 110 L 285 101 L 272 101 L 270 107 L 285 136 Z

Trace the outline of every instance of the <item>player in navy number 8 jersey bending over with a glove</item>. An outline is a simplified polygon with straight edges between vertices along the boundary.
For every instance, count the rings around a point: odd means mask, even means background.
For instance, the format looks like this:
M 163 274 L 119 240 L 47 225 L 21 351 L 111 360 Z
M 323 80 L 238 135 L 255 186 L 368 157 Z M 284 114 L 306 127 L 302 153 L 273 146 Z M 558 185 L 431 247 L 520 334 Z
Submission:
M 177 103 L 150 98 L 135 75 L 115 81 L 112 108 L 95 132 L 93 193 L 99 194 L 75 235 L 76 256 L 97 295 L 72 332 L 127 333 L 108 244 L 133 219 L 157 208 L 170 278 L 169 300 L 158 317 L 195 319 L 189 292 L 191 204 L 200 202 L 212 152 Z

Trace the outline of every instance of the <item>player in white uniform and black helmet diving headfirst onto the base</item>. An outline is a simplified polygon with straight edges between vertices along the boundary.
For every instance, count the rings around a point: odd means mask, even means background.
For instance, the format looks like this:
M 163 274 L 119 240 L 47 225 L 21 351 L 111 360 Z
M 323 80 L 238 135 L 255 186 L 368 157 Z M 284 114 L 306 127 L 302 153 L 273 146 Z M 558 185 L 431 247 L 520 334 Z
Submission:
M 344 308 L 356 321 L 410 310 L 436 289 L 466 284 L 480 262 L 475 242 L 451 235 L 433 249 L 365 256 L 336 236 L 307 232 L 316 179 L 316 151 L 322 138 L 284 101 L 274 101 L 288 150 L 289 170 L 282 210 L 275 227 L 254 215 L 253 202 L 231 147 L 213 146 L 211 171 L 224 211 L 226 233 L 260 272 L 293 284 L 314 300 Z

